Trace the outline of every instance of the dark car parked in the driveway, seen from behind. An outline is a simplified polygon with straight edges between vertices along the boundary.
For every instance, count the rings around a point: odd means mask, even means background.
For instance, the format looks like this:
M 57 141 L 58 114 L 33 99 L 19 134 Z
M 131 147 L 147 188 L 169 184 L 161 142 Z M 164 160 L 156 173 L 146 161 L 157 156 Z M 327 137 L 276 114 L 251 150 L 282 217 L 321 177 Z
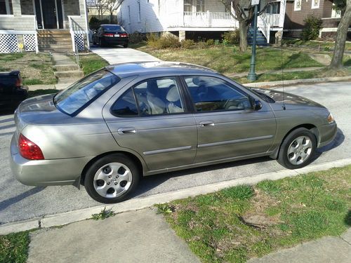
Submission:
M 129 35 L 120 25 L 100 25 L 93 33 L 93 44 L 100 46 L 121 45 L 128 47 Z

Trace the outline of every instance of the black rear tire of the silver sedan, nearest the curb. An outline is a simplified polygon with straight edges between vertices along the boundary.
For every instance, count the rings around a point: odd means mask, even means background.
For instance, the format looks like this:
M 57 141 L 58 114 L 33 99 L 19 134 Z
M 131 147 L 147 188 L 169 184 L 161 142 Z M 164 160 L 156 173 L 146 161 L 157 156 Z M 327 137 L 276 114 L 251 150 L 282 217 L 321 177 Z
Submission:
M 99 172 L 99 170 L 102 170 L 102 168 L 105 169 L 104 166 L 107 166 L 107 164 L 111 164 L 111 163 L 121 163 L 122 165 L 126 166 L 130 172 L 131 172 L 131 184 L 129 185 L 128 189 L 126 189 L 126 191 L 124 191 L 120 196 L 117 197 L 104 197 L 102 195 L 100 195 L 98 193 L 98 191 L 96 191 L 95 189 L 95 185 L 98 186 L 98 181 L 102 181 L 103 180 L 94 180 L 95 175 Z M 108 178 L 107 180 L 114 180 L 114 172 L 118 172 L 118 171 L 113 171 L 111 172 L 111 175 L 113 178 Z M 104 156 L 101 159 L 98 159 L 98 161 L 95 161 L 95 163 L 93 163 L 88 170 L 86 171 L 86 175 L 84 178 L 84 187 L 86 188 L 86 191 L 88 193 L 89 196 L 91 196 L 91 198 L 93 198 L 95 201 L 98 201 L 100 203 L 118 203 L 121 201 L 124 201 L 128 198 L 128 196 L 135 191 L 136 187 L 138 186 L 138 182 L 140 180 L 140 170 L 138 169 L 138 166 L 131 161 L 131 159 L 129 159 L 127 156 L 125 156 L 124 154 L 111 154 L 108 156 Z M 117 181 L 117 179 L 116 179 Z M 121 186 L 122 182 L 126 182 L 126 181 L 121 181 L 118 183 L 118 186 Z M 108 182 L 104 182 L 103 185 L 106 186 L 106 188 L 108 189 L 108 191 L 110 191 L 112 189 L 112 191 L 114 191 L 113 189 L 113 184 L 115 184 L 116 182 L 110 182 L 109 185 L 111 185 L 111 187 L 109 187 L 107 185 Z M 105 188 L 105 187 L 104 187 Z M 122 188 L 121 188 L 122 189 Z M 109 193 L 107 193 L 109 194 Z

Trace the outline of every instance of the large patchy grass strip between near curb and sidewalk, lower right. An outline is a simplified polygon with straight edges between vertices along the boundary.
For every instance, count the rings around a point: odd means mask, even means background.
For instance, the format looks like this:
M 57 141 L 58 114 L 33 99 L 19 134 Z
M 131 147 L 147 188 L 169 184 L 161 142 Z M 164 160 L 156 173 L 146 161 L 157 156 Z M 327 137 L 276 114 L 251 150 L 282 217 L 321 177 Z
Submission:
M 351 166 L 158 205 L 202 262 L 246 262 L 351 226 Z

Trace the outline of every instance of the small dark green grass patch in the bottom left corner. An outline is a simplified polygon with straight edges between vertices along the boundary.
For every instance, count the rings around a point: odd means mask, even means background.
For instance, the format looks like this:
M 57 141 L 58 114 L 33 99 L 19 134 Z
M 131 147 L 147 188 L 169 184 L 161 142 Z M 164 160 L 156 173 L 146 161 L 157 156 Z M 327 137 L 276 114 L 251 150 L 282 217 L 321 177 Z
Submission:
M 0 236 L 0 262 L 27 262 L 28 247 L 29 231 Z

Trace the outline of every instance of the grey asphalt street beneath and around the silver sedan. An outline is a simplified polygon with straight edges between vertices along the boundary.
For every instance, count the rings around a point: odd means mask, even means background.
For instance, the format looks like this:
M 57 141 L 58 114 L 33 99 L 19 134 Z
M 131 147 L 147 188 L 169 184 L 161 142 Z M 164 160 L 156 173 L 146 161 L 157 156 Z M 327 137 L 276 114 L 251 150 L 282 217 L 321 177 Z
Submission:
M 287 87 L 285 91 L 324 104 L 338 123 L 336 140 L 318 150 L 314 163 L 351 157 L 351 82 L 300 85 Z M 100 205 L 86 194 L 84 187 L 81 190 L 73 186 L 27 187 L 17 182 L 8 165 L 14 130 L 13 115 L 0 115 L 0 224 Z M 276 161 L 260 158 L 154 175 L 140 181 L 133 198 L 277 170 L 283 167 Z

